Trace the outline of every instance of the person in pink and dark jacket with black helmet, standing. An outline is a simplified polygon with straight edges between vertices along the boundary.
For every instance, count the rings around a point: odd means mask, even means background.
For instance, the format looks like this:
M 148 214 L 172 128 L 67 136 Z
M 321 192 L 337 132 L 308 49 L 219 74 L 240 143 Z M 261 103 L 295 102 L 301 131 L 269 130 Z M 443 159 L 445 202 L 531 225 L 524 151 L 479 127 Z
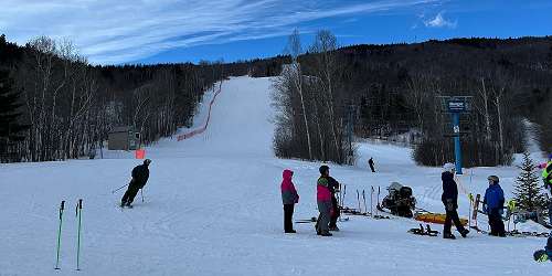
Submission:
M 317 223 L 315 225 L 316 227 L 316 233 L 317 235 L 321 236 L 331 236 L 331 233 L 329 232 L 329 223 L 330 223 L 330 215 L 332 211 L 332 204 L 331 204 L 331 192 L 330 192 L 330 184 L 328 181 L 328 177 L 330 176 L 330 168 L 326 164 L 320 166 L 318 169 L 320 172 L 320 177 L 318 178 L 317 181 L 317 194 L 316 194 L 316 200 L 318 204 L 318 211 L 320 212 L 320 215 L 318 215 Z

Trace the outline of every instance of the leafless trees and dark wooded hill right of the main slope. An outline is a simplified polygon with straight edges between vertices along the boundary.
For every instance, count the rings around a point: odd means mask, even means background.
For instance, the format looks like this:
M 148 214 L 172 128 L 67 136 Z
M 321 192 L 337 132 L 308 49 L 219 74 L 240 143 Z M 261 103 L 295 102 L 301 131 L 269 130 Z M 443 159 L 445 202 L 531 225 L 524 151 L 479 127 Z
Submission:
M 551 36 L 338 47 L 320 31 L 300 50 L 294 32 L 293 61 L 275 84 L 278 156 L 353 162 L 352 121 L 357 137 L 410 142 L 420 164 L 453 161 L 444 96 L 469 100 L 460 123 L 464 166 L 510 164 L 528 146 L 527 120 L 540 126 L 541 149 L 552 150 Z

